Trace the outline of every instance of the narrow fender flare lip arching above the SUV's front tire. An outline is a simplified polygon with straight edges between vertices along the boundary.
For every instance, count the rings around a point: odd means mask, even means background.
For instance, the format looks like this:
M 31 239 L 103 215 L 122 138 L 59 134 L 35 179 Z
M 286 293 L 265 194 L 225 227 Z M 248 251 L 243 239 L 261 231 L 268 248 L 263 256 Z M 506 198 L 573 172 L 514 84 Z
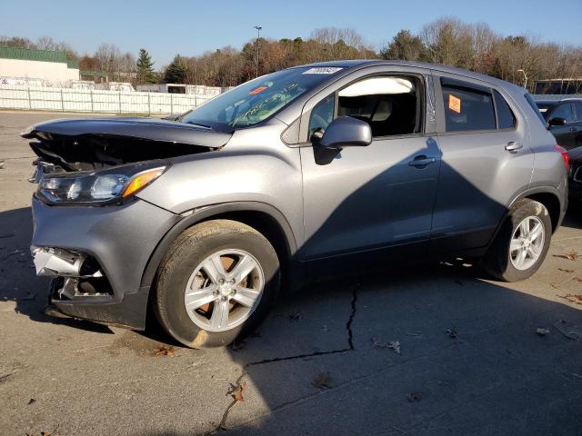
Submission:
M 156 277 L 157 268 L 164 254 L 166 254 L 170 245 L 176 240 L 178 234 L 184 232 L 188 227 L 196 225 L 205 221 L 207 218 L 220 213 L 232 212 L 260 212 L 266 213 L 271 218 L 276 220 L 283 233 L 285 233 L 286 248 L 288 250 L 289 258 L 295 256 L 297 252 L 297 244 L 295 234 L 291 229 L 291 225 L 286 220 L 286 217 L 275 206 L 268 203 L 261 202 L 232 202 L 232 203 L 217 203 L 207 206 L 202 206 L 194 209 L 191 213 L 184 216 L 184 218 L 176 223 L 156 245 L 154 252 L 151 254 L 146 264 L 146 269 L 142 274 L 140 286 L 152 286 Z

